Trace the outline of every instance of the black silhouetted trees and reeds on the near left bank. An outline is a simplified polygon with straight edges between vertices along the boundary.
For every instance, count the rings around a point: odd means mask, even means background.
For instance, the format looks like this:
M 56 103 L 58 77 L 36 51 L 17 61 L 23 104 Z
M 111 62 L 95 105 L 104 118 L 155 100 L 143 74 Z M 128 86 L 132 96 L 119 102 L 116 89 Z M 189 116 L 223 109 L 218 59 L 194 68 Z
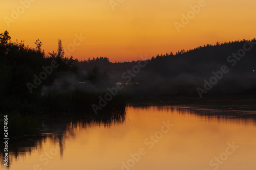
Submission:
M 84 83 L 79 84 L 86 79 L 90 81 L 90 87 L 102 81 L 101 86 L 106 86 L 109 83 L 107 72 L 94 68 L 83 74 L 73 64 L 72 57 L 64 57 L 61 40 L 57 53 L 46 54 L 41 50 L 39 39 L 35 45 L 32 48 L 24 41 L 12 42 L 7 31 L 0 34 L 0 119 L 8 115 L 10 137 L 36 134 L 41 120 L 47 115 L 82 114 L 85 119 L 104 119 L 105 122 L 124 118 L 125 102 L 121 95 L 113 96 L 95 114 L 92 104 L 99 105 L 106 92 L 91 91 L 84 88 Z M 65 82 L 63 78 L 70 75 L 76 80 Z

